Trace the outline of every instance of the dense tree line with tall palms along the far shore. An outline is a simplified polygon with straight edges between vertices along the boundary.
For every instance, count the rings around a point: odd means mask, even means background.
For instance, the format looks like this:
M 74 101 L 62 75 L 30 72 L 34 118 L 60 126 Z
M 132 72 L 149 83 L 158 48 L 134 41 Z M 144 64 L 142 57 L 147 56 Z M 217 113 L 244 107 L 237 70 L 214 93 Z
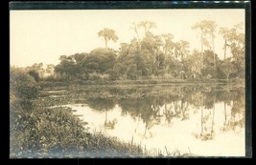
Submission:
M 121 43 L 118 51 L 108 48 L 108 42 L 116 42 L 114 30 L 98 32 L 105 48 L 91 52 L 61 55 L 56 66 L 48 66 L 45 72 L 58 80 L 126 80 L 149 78 L 175 79 L 230 79 L 244 78 L 244 33 L 242 25 L 217 29 L 214 21 L 203 20 L 191 27 L 199 37 L 200 50 L 190 52 L 190 43 L 175 41 L 172 33 L 154 34 L 156 24 L 151 21 L 132 23 L 130 29 L 135 37 L 129 43 Z M 143 33 L 139 32 L 143 31 Z M 224 58 L 215 52 L 217 33 L 222 36 Z M 196 35 L 196 34 L 195 34 Z M 231 52 L 226 57 L 227 51 Z M 36 68 L 37 67 L 37 68 Z M 40 65 L 28 69 L 39 76 Z M 37 72 L 37 75 L 36 75 Z

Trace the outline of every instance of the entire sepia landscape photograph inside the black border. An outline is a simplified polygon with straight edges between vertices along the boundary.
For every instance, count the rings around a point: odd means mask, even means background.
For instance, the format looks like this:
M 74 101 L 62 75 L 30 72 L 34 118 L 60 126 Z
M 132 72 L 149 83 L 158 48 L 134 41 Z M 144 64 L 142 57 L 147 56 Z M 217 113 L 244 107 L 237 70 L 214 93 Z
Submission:
M 245 156 L 245 10 L 10 10 L 10 157 Z

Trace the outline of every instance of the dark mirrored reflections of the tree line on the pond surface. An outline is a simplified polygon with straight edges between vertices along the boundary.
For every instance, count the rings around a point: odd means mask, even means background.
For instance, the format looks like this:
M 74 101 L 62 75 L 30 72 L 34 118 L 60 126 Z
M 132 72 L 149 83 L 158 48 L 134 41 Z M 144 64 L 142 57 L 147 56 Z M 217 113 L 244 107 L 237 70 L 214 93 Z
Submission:
M 161 89 L 160 89 L 161 90 Z M 216 132 L 234 131 L 244 128 L 244 88 L 228 89 L 222 86 L 216 87 L 168 87 L 168 93 L 143 94 L 145 90 L 135 90 L 135 97 L 127 98 L 90 98 L 88 106 L 98 112 L 105 112 L 104 125 L 106 129 L 114 129 L 119 118 L 109 118 L 107 113 L 116 105 L 121 109 L 121 115 L 129 115 L 136 123 L 134 134 L 137 133 L 139 123 L 143 123 L 144 130 L 141 135 L 151 138 L 151 128 L 155 125 L 168 125 L 172 127 L 175 121 L 185 122 L 191 116 L 199 117 L 199 129 L 195 137 L 202 141 L 213 140 Z M 116 94 L 116 93 L 118 94 Z M 140 93 L 142 92 L 142 93 Z M 112 95 L 120 95 L 120 90 L 112 90 Z M 131 91 L 128 91 L 132 95 Z M 216 110 L 216 105 L 219 105 Z M 220 109 L 220 105 L 222 108 Z M 227 108 L 228 106 L 228 108 Z M 216 116 L 222 111 L 222 116 Z M 218 118 L 216 118 L 218 117 Z M 223 118 L 221 130 L 220 117 Z M 122 122 L 122 121 L 119 121 Z M 138 134 L 138 133 L 137 133 Z

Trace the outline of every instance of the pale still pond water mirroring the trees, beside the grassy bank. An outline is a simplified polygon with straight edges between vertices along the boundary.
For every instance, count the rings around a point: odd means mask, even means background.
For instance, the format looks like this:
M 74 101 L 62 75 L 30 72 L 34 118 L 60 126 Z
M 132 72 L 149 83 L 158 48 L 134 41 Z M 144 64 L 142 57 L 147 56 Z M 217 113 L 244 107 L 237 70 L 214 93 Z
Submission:
M 171 88 L 171 90 L 170 90 Z M 243 156 L 244 88 L 165 87 L 165 94 L 95 97 L 66 105 L 90 132 L 161 151 L 198 156 Z

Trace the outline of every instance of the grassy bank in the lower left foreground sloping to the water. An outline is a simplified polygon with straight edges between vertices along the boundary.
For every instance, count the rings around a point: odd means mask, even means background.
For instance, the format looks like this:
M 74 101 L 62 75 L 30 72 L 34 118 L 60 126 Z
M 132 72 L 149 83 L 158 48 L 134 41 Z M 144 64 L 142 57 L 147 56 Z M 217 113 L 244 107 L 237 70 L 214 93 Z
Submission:
M 143 156 L 140 146 L 102 133 L 89 134 L 71 109 L 18 109 L 11 103 L 11 157 Z

